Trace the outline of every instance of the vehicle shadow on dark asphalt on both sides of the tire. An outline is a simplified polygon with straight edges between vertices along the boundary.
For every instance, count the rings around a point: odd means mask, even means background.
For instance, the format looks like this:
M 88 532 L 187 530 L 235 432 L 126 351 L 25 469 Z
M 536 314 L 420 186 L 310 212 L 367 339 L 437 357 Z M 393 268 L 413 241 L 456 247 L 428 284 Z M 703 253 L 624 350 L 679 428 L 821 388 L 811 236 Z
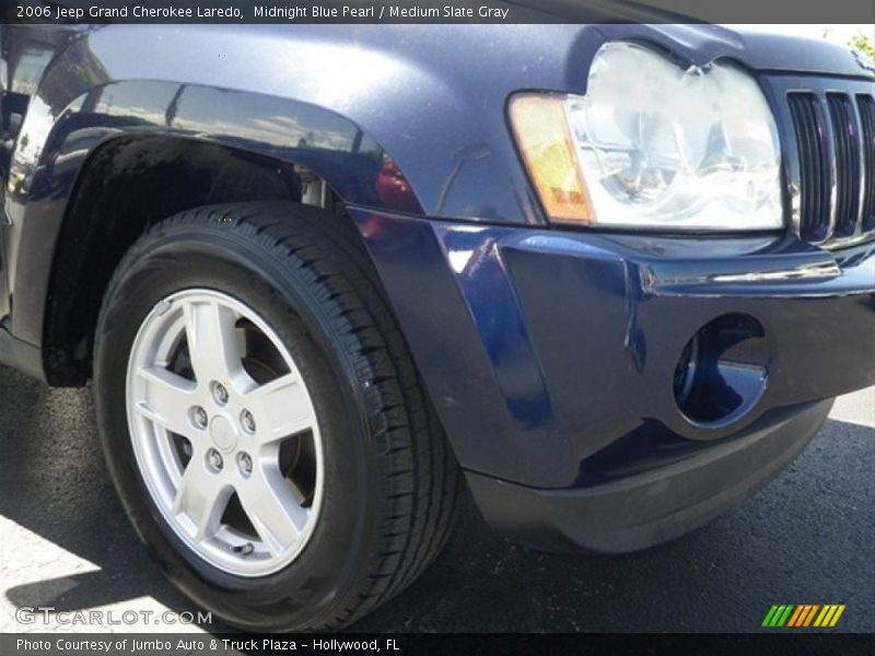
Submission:
M 77 611 L 151 596 L 192 605 L 140 544 L 105 472 L 90 390 L 0 368 L 0 515 L 98 571 L 15 585 L 15 607 Z M 368 632 L 754 631 L 775 602 L 847 604 L 872 631 L 875 430 L 829 421 L 779 479 L 704 528 L 623 557 L 552 555 L 495 537 L 469 496 L 447 549 Z M 24 564 L 3 536 L 7 566 Z M 2 572 L 2 569 L 0 569 Z M 221 624 L 203 626 L 228 631 Z

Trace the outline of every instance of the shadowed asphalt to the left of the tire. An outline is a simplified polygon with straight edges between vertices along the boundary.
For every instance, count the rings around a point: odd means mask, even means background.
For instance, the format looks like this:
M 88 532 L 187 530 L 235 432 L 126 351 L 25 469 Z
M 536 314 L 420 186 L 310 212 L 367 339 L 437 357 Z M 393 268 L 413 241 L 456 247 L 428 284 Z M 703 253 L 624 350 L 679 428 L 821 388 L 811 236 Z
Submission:
M 100 567 L 12 587 L 9 601 L 77 611 L 151 596 L 196 610 L 162 578 L 116 500 L 91 390 L 49 389 L 0 367 L 0 515 Z M 14 536 L 3 542 L 14 550 Z M 13 559 L 26 563 L 28 554 Z

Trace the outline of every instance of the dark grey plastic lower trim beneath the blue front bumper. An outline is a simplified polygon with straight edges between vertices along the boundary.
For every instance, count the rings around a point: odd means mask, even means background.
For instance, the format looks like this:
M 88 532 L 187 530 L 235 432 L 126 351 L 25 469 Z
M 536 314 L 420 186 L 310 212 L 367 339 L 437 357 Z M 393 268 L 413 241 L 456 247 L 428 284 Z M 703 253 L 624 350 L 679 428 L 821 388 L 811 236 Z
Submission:
M 770 481 L 815 436 L 831 400 L 715 443 L 680 462 L 602 485 L 538 490 L 467 472 L 490 525 L 547 551 L 621 553 L 702 525 Z

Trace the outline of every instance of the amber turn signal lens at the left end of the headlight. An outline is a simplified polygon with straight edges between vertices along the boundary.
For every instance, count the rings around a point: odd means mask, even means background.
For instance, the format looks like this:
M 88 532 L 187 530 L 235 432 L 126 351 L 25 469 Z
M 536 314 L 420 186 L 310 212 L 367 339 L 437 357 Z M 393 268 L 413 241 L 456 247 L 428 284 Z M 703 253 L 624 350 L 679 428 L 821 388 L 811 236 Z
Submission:
M 564 98 L 524 94 L 511 99 L 511 124 L 528 175 L 552 221 L 593 223 Z

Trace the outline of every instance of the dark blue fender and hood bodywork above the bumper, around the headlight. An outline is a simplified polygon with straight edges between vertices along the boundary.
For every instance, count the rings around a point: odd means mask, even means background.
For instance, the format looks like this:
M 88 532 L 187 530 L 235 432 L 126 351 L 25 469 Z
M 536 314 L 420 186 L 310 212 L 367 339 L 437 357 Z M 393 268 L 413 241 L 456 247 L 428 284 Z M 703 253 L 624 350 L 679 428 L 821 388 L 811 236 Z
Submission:
M 503 120 L 505 103 L 521 89 L 583 93 L 607 39 L 648 40 L 696 63 L 726 57 L 759 70 L 868 74 L 842 48 L 711 25 L 3 30 L 10 51 L 19 47 L 38 73 L 12 70 L 4 98 L 30 106 L 11 154 L 12 174 L 25 184 L 7 198 L 13 225 L 3 239 L 8 295 L 21 311 L 12 332 L 37 345 L 70 195 L 84 163 L 113 138 L 232 144 L 310 166 L 347 202 L 397 210 L 374 198 L 350 152 L 363 139 L 397 162 L 425 215 L 545 224 Z M 0 315 L 7 311 L 0 303 Z

